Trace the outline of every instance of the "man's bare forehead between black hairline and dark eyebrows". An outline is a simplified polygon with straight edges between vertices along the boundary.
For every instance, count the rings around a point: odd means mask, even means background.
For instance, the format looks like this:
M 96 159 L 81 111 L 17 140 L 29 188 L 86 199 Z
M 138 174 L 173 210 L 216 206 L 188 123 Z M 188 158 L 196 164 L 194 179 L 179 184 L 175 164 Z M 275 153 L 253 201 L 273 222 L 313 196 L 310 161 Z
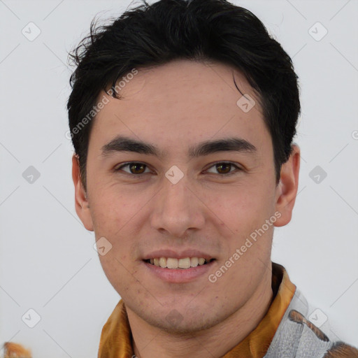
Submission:
M 176 60 L 132 73 L 118 81 L 121 99 L 108 96 L 96 115 L 90 143 L 117 134 L 177 147 L 232 134 L 256 142 L 269 138 L 257 94 L 231 66 Z M 254 102 L 246 98 L 255 101 L 248 111 L 240 105 Z

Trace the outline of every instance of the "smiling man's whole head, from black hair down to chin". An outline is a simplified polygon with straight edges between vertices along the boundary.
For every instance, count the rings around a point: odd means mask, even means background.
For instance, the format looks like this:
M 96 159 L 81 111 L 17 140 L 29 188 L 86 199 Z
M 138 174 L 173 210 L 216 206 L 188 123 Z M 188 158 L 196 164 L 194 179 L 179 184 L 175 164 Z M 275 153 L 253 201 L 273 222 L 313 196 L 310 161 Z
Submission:
M 72 58 L 76 212 L 110 249 L 99 255 L 108 280 L 149 324 L 212 327 L 259 296 L 273 227 L 291 220 L 291 59 L 255 15 L 223 0 L 143 3 L 92 22 Z M 157 257 L 208 264 L 178 279 L 153 269 Z

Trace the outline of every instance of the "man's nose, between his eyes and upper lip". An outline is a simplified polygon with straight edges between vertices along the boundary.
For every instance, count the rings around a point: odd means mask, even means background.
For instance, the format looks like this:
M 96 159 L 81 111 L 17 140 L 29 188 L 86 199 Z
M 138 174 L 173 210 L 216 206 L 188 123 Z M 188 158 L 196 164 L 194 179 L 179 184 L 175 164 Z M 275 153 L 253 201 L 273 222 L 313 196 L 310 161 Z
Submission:
M 204 227 L 205 205 L 185 178 L 176 184 L 164 178 L 162 188 L 153 199 L 150 221 L 152 227 L 163 234 L 185 238 L 187 231 Z

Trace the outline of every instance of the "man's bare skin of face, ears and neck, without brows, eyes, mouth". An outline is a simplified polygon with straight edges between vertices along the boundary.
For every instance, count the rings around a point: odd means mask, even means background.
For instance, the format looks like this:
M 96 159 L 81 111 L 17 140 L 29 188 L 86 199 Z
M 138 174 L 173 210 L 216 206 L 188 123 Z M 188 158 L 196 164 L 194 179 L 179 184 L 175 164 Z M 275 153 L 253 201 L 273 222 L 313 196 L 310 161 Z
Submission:
M 122 88 L 123 98 L 108 96 L 96 115 L 87 192 L 73 156 L 76 212 L 96 240 L 105 237 L 113 245 L 99 259 L 127 306 L 136 356 L 221 357 L 257 327 L 271 304 L 273 226 L 292 217 L 299 147 L 292 145 L 276 185 L 271 136 L 257 95 L 240 72 L 188 60 L 138 70 Z M 241 94 L 233 76 L 256 101 L 248 113 L 236 105 Z M 103 158 L 101 148 L 118 134 L 156 145 L 163 157 L 112 152 Z M 199 142 L 232 136 L 257 150 L 187 155 Z M 242 170 L 220 171 L 215 163 L 223 161 Z M 114 171 L 127 162 L 147 165 L 145 174 L 138 177 L 129 167 Z M 184 174 L 176 184 L 165 177 L 173 165 Z M 227 170 L 231 176 L 223 175 Z M 208 272 L 215 273 L 274 213 L 280 218 L 215 283 L 208 274 L 192 282 L 164 282 L 142 261 L 152 250 L 193 248 L 215 257 Z M 178 322 L 166 320 L 172 310 Z

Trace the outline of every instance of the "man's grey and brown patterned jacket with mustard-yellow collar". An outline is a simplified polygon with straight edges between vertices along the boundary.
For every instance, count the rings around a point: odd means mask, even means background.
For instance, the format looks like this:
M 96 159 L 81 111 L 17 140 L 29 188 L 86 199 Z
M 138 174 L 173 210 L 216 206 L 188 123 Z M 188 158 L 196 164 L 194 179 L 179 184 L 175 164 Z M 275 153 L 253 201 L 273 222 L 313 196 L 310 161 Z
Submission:
M 306 319 L 308 303 L 285 268 L 272 263 L 273 301 L 257 327 L 222 358 L 358 358 L 358 350 L 332 342 Z M 122 299 L 101 333 L 99 358 L 132 358 L 133 338 Z

